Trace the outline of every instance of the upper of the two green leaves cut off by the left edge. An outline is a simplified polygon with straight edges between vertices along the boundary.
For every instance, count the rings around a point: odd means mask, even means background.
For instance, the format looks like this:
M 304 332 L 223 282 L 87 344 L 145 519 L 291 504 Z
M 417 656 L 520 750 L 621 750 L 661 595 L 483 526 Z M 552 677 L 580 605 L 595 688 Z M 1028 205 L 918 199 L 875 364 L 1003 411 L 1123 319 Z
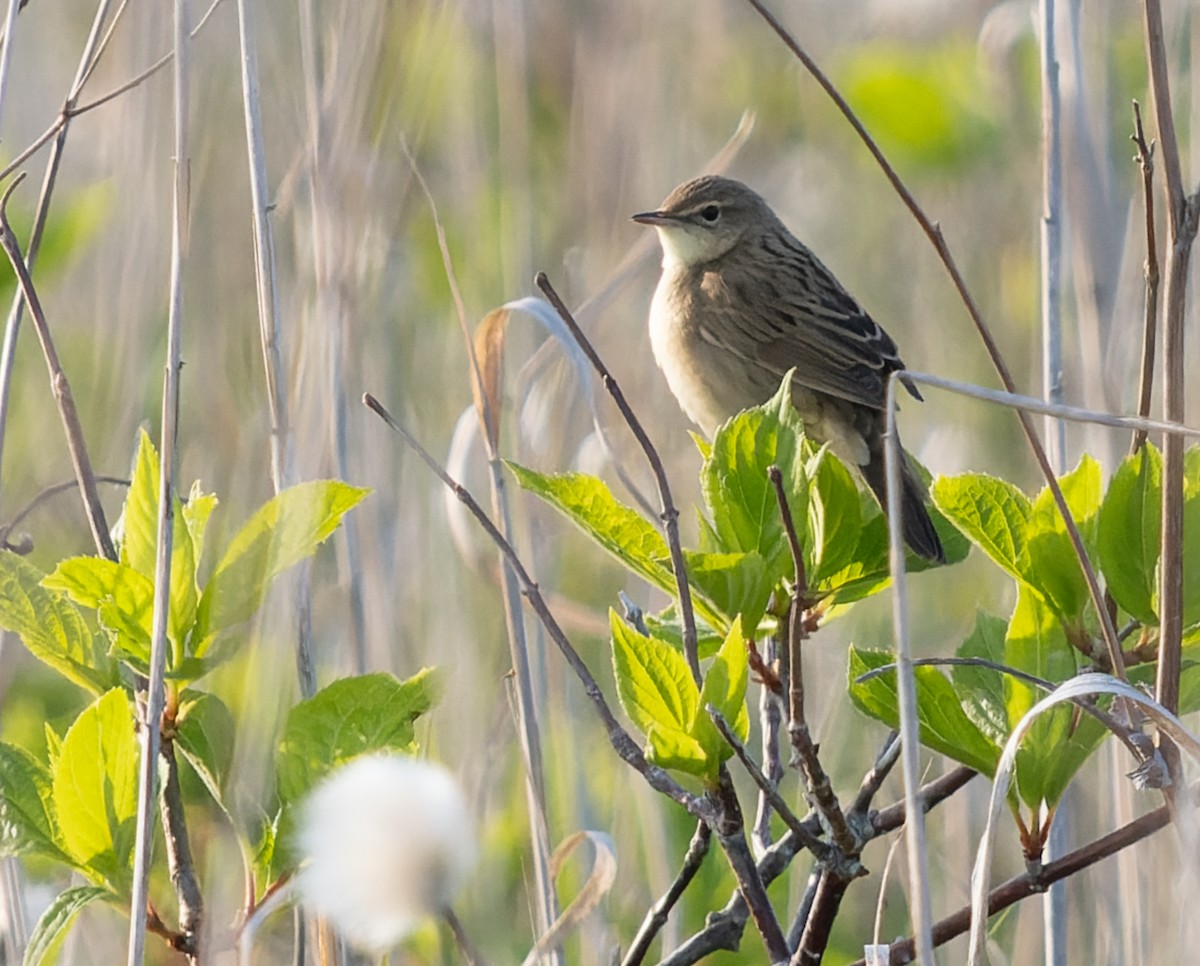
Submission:
M 0 551 L 0 628 L 68 680 L 100 694 L 116 683 L 116 662 L 66 595 L 41 586 L 44 576 L 16 553 Z

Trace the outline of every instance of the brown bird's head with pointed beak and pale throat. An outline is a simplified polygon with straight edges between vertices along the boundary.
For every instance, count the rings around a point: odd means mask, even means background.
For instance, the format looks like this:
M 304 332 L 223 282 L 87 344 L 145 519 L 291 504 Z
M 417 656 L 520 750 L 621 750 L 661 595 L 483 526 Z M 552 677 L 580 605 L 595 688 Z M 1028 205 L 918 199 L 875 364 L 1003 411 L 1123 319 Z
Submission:
M 634 221 L 658 229 L 664 268 L 690 268 L 714 262 L 774 217 L 740 181 L 706 174 L 679 185 L 658 210 L 634 215 Z

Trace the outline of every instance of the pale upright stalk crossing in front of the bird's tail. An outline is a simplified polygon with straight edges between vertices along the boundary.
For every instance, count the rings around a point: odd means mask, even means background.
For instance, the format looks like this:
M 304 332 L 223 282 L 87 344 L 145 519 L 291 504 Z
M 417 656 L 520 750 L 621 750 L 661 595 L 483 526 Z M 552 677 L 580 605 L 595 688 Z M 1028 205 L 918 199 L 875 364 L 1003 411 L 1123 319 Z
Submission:
M 906 588 L 904 500 L 901 498 L 904 452 L 896 433 L 896 386 L 888 379 L 887 432 L 883 437 L 887 470 L 888 566 L 892 571 L 892 623 L 896 648 L 896 684 L 900 704 L 900 754 L 904 774 L 905 846 L 908 856 L 908 907 L 917 955 L 925 966 L 935 966 L 934 919 L 929 892 L 929 863 L 925 851 L 925 812 L 920 806 L 920 725 L 917 719 L 917 677 L 908 643 L 908 592 Z

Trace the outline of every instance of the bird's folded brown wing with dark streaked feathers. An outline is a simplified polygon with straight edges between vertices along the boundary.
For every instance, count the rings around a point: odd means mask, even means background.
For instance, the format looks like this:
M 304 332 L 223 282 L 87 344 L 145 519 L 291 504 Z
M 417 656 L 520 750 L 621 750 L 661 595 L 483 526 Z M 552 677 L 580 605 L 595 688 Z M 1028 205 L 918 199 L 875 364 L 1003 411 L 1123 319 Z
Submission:
M 800 385 L 882 409 L 888 374 L 904 368 L 895 342 L 798 241 L 769 254 L 728 290 L 744 328 L 730 348 L 776 379 L 794 368 Z

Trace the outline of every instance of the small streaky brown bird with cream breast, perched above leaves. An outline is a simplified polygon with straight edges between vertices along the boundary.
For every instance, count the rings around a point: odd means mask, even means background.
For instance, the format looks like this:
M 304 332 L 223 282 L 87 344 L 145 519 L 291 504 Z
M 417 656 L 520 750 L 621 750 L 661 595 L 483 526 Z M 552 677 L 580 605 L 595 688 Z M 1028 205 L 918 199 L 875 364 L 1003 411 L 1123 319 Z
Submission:
M 754 191 L 704 175 L 634 215 L 662 244 L 650 346 L 688 416 L 709 437 L 769 400 L 794 368 L 792 401 L 808 434 L 858 467 L 887 509 L 887 377 L 904 370 L 895 342 Z M 916 397 L 916 386 L 905 382 Z M 905 541 L 944 562 L 925 487 L 905 460 Z

